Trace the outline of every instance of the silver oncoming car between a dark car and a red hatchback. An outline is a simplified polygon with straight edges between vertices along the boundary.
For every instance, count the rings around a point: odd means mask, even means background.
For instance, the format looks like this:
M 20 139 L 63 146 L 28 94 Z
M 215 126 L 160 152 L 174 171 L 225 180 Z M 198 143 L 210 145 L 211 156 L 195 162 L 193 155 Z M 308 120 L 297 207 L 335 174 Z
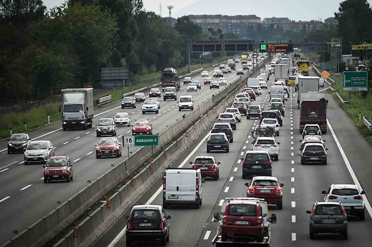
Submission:
M 31 141 L 23 154 L 23 159 L 25 165 L 32 163 L 45 164 L 52 156 L 54 156 L 54 147 L 51 141 Z

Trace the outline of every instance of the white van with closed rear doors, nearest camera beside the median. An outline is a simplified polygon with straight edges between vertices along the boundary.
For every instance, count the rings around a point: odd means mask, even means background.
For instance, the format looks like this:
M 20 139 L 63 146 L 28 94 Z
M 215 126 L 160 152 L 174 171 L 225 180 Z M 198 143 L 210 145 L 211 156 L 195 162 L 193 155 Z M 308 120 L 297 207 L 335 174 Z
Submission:
M 163 208 L 171 204 L 202 205 L 203 189 L 200 169 L 167 168 L 163 178 Z

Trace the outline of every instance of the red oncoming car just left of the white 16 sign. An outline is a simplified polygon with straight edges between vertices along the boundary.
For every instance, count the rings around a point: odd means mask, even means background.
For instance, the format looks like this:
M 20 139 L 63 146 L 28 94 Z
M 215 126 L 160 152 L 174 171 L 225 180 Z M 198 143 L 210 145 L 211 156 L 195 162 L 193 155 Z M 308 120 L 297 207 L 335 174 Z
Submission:
M 96 158 L 101 157 L 120 157 L 121 156 L 121 143 L 116 137 L 101 138 L 96 146 Z

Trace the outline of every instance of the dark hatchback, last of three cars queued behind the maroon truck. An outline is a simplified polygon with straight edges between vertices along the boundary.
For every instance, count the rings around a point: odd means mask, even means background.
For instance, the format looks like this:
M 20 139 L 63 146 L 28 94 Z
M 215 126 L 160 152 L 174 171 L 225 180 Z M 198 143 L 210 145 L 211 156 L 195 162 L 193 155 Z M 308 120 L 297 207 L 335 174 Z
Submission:
M 327 148 L 321 143 L 306 143 L 301 152 L 301 165 L 307 163 L 322 163 L 327 165 Z

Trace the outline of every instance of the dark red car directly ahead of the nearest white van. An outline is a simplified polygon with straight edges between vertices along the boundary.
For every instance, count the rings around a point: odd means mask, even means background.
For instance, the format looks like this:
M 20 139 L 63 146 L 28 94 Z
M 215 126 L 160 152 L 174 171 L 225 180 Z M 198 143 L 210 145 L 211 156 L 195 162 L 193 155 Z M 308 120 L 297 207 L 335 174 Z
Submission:
M 195 157 L 194 162 L 189 162 L 191 168 L 200 169 L 202 177 L 214 178 L 215 180 L 219 179 L 219 164 L 215 157 L 213 156 L 197 156 Z

